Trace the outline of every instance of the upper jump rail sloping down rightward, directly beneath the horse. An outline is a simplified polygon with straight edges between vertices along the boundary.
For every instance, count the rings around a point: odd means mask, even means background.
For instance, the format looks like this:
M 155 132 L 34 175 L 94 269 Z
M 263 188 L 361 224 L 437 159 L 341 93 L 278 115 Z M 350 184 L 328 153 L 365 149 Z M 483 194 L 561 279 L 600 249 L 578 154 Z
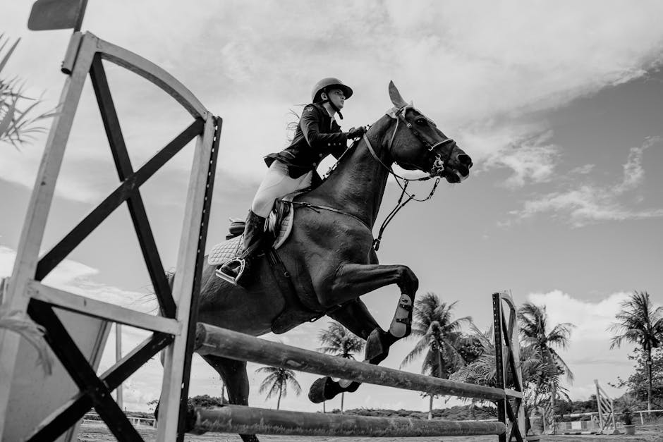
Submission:
M 504 400 L 505 398 L 504 391 L 499 388 L 449 381 L 342 357 L 323 355 L 202 322 L 197 324 L 195 351 L 200 355 L 229 357 L 233 360 L 256 362 L 270 367 L 284 367 L 299 372 L 323 374 L 351 381 L 424 391 L 437 395 L 483 400 Z

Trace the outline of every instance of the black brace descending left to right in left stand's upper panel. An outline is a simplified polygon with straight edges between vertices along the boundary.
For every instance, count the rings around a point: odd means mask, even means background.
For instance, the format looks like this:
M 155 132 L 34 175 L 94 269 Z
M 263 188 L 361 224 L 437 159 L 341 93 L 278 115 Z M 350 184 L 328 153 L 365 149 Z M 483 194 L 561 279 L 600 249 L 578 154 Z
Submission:
M 104 121 L 104 128 L 108 142 L 113 153 L 115 167 L 117 168 L 118 177 L 121 181 L 126 180 L 133 173 L 133 167 L 129 159 L 120 121 L 117 116 L 111 90 L 106 78 L 106 72 L 102 59 L 99 54 L 95 55 L 92 60 L 92 67 L 90 68 L 90 78 L 92 79 L 92 86 L 97 95 L 97 103 L 99 104 L 99 111 L 102 114 Z M 137 188 L 133 195 L 127 199 L 129 207 L 129 214 L 133 221 L 133 226 L 138 236 L 138 243 L 140 243 L 140 250 L 145 259 L 147 272 L 150 274 L 152 280 L 152 287 L 154 293 L 159 300 L 159 306 L 164 317 L 175 317 L 176 305 L 173 300 L 173 294 L 166 278 L 166 272 L 159 257 L 159 250 L 157 250 L 157 243 L 154 242 L 154 235 L 150 227 L 150 221 L 147 220 L 147 212 L 145 211 L 145 204 L 142 202 L 140 190 Z

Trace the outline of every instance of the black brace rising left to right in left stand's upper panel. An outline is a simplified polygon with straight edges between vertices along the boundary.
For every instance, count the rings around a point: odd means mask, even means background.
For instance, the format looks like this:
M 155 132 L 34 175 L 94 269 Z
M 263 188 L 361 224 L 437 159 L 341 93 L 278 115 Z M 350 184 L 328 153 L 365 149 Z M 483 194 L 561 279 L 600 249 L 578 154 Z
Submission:
M 166 161 L 171 159 L 188 142 L 202 132 L 205 123 L 197 118 L 188 128 L 183 130 L 174 140 L 168 143 L 157 154 L 152 156 L 138 171 L 132 173 L 123 181 L 121 185 L 114 190 L 104 201 L 97 206 L 90 214 L 85 216 L 83 221 L 78 223 L 71 232 L 69 232 L 50 252 L 48 252 L 37 264 L 35 280 L 41 281 L 51 270 L 55 268 L 71 251 L 80 244 L 87 235 L 99 226 L 120 204 L 132 197 L 135 190 L 147 181 Z

